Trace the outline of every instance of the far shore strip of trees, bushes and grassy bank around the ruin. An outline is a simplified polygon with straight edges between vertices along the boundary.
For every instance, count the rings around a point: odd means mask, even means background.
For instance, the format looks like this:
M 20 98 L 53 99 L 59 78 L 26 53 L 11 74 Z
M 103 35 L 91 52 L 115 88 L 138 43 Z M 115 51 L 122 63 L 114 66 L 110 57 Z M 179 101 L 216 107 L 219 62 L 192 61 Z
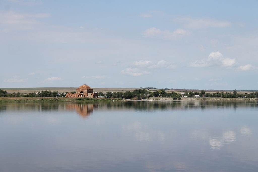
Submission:
M 200 98 L 193 98 L 193 96 L 199 95 Z M 38 93 L 20 94 L 12 93 L 7 94 L 6 91 L 0 89 L 0 102 L 49 102 L 49 101 L 122 101 L 122 100 L 250 100 L 258 96 L 258 92 L 250 94 L 237 94 L 234 90 L 233 94 L 230 92 L 217 92 L 206 93 L 204 90 L 201 92 L 187 92 L 185 91 L 183 96 L 180 93 L 170 92 L 167 93 L 165 89 L 158 91 L 147 91 L 146 89 L 135 89 L 134 91 L 127 92 L 107 92 L 106 95 L 99 93 L 99 96 L 106 96 L 106 98 L 73 98 L 65 97 L 65 94 L 59 94 L 58 91 L 42 91 Z M 54 98 L 50 98 L 54 97 Z

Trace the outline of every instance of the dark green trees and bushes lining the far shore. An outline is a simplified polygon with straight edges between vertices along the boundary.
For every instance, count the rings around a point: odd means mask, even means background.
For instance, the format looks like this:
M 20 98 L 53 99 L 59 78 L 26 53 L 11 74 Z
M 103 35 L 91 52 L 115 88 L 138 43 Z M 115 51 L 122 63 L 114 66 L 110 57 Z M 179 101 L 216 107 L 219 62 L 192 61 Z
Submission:
M 77 98 L 74 101 L 104 101 L 104 100 L 123 100 L 123 99 L 131 99 L 131 100 L 145 100 L 150 99 L 153 97 L 167 97 L 171 98 L 171 100 L 180 100 L 183 96 L 186 97 L 195 97 L 196 95 L 200 96 L 200 98 L 255 98 L 258 96 L 258 92 L 253 93 L 245 93 L 245 94 L 238 94 L 236 89 L 233 93 L 230 92 L 216 92 L 216 93 L 206 93 L 204 90 L 201 92 L 187 92 L 184 93 L 176 93 L 176 92 L 166 92 L 165 89 L 160 89 L 157 91 L 147 91 L 146 89 L 135 89 L 134 91 L 126 91 L 126 92 L 107 92 L 102 93 L 99 92 L 99 96 L 101 98 Z M 69 100 L 65 97 L 65 93 L 59 94 L 58 91 L 41 91 L 38 93 L 29 93 L 29 94 L 20 94 L 12 93 L 7 94 L 6 91 L 0 89 L 0 97 L 55 97 L 55 98 L 64 98 L 63 101 Z M 69 97 L 70 98 L 70 97 Z M 41 99 L 37 99 L 41 100 Z M 47 101 L 43 99 L 42 101 Z M 57 101 L 53 99 L 53 101 Z M 59 100 L 58 100 L 59 101 Z

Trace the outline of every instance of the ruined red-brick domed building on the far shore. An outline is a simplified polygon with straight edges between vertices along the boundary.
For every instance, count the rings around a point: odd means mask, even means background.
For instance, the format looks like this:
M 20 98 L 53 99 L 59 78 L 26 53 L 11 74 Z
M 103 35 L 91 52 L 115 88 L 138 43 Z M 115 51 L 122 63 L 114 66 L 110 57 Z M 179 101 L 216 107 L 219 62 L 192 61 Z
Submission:
M 76 93 L 72 94 L 68 92 L 66 97 L 98 97 L 98 93 L 93 93 L 93 89 L 88 85 L 81 85 L 76 89 Z

